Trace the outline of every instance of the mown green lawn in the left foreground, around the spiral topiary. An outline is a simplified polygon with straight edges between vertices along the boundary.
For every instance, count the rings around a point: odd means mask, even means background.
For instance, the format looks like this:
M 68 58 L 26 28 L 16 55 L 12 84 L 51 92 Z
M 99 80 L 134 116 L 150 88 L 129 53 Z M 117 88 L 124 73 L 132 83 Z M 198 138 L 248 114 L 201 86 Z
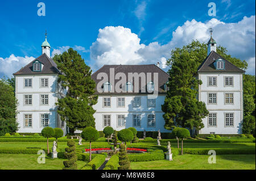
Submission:
M 65 159 L 46 157 L 46 163 L 38 163 L 39 155 L 35 154 L 0 154 L 0 169 L 7 170 L 62 170 Z M 77 161 L 77 169 L 86 164 Z

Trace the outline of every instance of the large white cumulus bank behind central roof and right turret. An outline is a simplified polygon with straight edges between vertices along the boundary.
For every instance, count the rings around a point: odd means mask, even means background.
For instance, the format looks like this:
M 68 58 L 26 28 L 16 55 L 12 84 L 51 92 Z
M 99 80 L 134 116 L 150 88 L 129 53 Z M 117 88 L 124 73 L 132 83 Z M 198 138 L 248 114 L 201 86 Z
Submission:
M 154 41 L 148 45 L 141 44 L 139 37 L 129 28 L 122 26 L 105 27 L 99 30 L 97 40 L 90 47 L 90 57 L 95 60 L 95 69 L 104 64 L 156 64 L 167 68 L 166 60 L 170 58 L 171 49 L 187 45 L 192 40 L 207 42 L 209 28 L 217 45 L 226 47 L 233 57 L 246 60 L 250 65 L 255 62 L 255 16 L 244 17 L 237 23 L 225 23 L 215 18 L 208 22 L 195 19 L 185 22 L 172 32 L 172 39 L 167 44 Z M 254 59 L 253 59 L 254 58 Z M 249 61 L 250 60 L 250 61 Z M 255 63 L 254 63 L 255 68 Z M 247 70 L 247 73 L 253 73 Z

